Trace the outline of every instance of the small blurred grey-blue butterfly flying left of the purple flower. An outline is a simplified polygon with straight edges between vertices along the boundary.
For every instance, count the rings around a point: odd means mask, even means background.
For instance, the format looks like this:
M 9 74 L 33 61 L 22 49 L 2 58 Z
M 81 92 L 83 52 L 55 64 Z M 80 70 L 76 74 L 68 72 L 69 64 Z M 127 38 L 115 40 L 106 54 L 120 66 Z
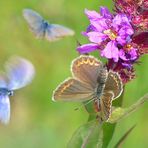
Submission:
M 24 9 L 23 16 L 37 38 L 56 41 L 63 37 L 74 35 L 73 30 L 62 25 L 49 24 L 40 14 L 31 9 Z

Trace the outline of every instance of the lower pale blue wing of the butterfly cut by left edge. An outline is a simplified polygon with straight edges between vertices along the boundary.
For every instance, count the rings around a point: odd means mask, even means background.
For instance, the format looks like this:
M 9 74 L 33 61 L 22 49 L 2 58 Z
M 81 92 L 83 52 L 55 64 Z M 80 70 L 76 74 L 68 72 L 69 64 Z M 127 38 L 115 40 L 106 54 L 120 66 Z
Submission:
M 7 124 L 10 120 L 10 102 L 6 95 L 0 96 L 0 121 Z

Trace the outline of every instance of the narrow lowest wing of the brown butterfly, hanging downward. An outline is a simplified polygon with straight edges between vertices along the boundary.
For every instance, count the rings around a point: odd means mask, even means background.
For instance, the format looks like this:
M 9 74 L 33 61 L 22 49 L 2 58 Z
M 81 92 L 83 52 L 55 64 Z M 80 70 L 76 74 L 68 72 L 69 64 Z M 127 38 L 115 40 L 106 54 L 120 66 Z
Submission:
M 113 98 L 114 93 L 111 91 L 105 92 L 100 98 L 99 110 L 103 121 L 107 121 L 110 117 Z

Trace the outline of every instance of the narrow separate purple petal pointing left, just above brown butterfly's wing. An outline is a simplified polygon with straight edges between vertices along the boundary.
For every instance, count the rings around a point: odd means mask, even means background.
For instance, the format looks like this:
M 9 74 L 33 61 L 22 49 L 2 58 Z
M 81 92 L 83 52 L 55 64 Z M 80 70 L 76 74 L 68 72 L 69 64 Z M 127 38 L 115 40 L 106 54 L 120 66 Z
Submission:
M 77 51 L 81 54 L 84 54 L 84 53 L 89 53 L 89 52 L 92 52 L 94 50 L 97 50 L 99 48 L 99 46 L 97 44 L 84 44 L 82 46 L 79 46 L 77 48 Z

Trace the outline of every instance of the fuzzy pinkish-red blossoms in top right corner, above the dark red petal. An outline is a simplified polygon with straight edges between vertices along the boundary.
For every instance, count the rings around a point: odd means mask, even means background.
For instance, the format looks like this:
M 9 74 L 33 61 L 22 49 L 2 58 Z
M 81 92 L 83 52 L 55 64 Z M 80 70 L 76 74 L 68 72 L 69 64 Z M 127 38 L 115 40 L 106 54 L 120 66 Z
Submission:
M 131 18 L 135 31 L 148 29 L 147 0 L 114 0 L 115 11 Z

